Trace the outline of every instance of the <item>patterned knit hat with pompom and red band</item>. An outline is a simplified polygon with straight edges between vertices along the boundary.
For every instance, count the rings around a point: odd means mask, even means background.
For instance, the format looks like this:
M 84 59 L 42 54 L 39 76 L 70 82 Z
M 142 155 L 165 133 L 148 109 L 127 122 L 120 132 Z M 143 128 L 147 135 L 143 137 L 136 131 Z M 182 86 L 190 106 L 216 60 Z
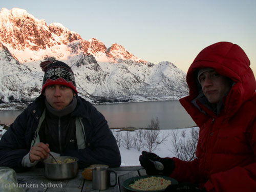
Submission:
M 45 72 L 44 79 L 42 80 L 41 94 L 44 93 L 47 86 L 52 84 L 62 84 L 63 86 L 70 87 L 77 94 L 74 73 L 65 62 L 57 60 L 53 62 L 44 61 L 40 63 L 40 67 Z

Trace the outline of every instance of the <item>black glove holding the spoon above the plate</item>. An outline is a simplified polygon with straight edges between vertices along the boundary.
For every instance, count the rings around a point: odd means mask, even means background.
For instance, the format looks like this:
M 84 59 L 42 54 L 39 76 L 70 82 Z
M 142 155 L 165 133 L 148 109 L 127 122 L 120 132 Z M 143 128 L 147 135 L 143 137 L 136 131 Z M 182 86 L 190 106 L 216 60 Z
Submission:
M 163 174 L 169 176 L 175 167 L 174 160 L 170 158 L 161 158 L 154 153 L 148 153 L 143 151 L 139 158 L 141 166 L 146 170 L 147 175 Z M 163 170 L 156 169 L 152 161 L 159 161 L 163 164 Z

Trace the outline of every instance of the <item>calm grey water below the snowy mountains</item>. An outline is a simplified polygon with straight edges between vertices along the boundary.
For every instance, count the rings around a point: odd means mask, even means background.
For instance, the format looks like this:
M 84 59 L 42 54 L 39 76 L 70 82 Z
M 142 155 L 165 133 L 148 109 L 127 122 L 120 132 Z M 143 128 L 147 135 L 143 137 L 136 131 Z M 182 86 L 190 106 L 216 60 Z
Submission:
M 160 129 L 194 126 L 195 122 L 178 100 L 94 105 L 108 120 L 110 127 L 147 127 L 159 118 Z M 0 111 L 0 123 L 11 124 L 22 111 Z

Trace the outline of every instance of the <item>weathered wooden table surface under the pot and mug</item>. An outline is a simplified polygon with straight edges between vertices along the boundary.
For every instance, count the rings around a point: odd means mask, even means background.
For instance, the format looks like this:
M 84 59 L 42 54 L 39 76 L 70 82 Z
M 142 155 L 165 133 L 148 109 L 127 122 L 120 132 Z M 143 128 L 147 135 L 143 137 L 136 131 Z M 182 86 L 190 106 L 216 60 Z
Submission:
M 109 187 L 106 192 L 126 192 L 123 188 L 123 182 L 126 179 L 146 175 L 145 169 L 141 166 L 121 166 L 118 168 L 110 168 L 117 173 L 118 184 Z M 78 175 L 69 180 L 53 181 L 45 177 L 44 168 L 33 168 L 29 172 L 17 173 L 17 187 L 25 189 L 25 191 L 99 191 L 92 188 L 92 181 L 83 179 L 83 169 L 79 169 Z M 112 177 L 113 176 L 113 177 Z M 111 174 L 111 184 L 115 183 L 115 176 Z

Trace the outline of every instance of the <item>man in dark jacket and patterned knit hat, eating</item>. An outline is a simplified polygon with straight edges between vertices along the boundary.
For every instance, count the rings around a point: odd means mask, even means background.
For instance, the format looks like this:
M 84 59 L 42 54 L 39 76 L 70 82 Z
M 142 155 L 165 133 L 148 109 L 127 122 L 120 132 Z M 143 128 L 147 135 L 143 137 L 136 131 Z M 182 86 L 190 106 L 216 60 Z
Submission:
M 118 167 L 121 156 L 104 116 L 77 96 L 71 68 L 61 61 L 40 64 L 41 95 L 28 105 L 0 140 L 0 166 L 26 170 L 55 156 L 73 156 L 80 168 Z

